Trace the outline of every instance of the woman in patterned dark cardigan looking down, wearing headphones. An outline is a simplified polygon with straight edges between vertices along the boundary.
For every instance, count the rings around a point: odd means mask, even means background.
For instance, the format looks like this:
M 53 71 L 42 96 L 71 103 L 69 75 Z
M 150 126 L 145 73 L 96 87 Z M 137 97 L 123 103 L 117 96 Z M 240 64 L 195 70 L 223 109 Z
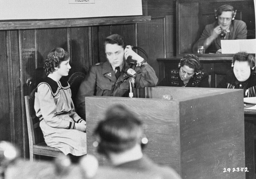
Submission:
M 200 71 L 200 61 L 196 55 L 185 55 L 178 68 L 171 70 L 158 86 L 209 88 L 209 75 Z

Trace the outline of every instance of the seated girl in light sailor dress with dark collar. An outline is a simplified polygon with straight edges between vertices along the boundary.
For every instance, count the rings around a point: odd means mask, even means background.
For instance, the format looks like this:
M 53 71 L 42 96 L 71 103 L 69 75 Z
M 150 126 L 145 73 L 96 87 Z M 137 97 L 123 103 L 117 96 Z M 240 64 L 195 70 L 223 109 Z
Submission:
M 47 77 L 37 86 L 35 111 L 48 146 L 60 149 L 76 162 L 87 153 L 86 121 L 74 111 L 69 83 L 61 79 L 70 70 L 69 52 L 55 48 L 45 60 Z

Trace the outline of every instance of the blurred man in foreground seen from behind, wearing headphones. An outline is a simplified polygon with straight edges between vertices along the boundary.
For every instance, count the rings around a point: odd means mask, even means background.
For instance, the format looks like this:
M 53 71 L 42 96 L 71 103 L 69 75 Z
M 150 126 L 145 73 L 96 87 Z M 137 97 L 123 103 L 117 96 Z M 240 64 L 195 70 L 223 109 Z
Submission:
M 140 120 L 122 105 L 115 105 L 98 123 L 95 134 L 99 136 L 98 152 L 105 155 L 115 169 L 156 176 L 163 179 L 180 179 L 167 166 L 160 166 L 142 153 L 147 143 Z M 145 177 L 146 178 L 146 177 Z

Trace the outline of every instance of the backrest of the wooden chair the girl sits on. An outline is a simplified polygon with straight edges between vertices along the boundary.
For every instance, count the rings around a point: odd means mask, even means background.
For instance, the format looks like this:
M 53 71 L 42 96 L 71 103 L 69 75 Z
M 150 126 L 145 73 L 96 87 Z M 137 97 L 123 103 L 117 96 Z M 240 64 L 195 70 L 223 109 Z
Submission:
M 44 142 L 44 136 L 39 127 L 39 118 L 34 109 L 36 88 L 32 90 L 29 96 L 25 96 L 25 107 L 28 127 L 29 149 L 33 150 L 33 144 Z

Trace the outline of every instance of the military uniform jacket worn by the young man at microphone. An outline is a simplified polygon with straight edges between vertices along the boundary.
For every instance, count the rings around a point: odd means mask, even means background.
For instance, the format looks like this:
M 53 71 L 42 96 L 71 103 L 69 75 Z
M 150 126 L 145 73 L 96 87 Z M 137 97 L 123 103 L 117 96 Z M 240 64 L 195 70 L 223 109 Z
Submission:
M 144 63 L 143 63 L 144 62 Z M 154 69 L 145 61 L 142 64 L 125 61 L 121 75 L 118 79 L 115 77 L 109 61 L 93 65 L 82 81 L 76 97 L 76 106 L 78 114 L 85 119 L 85 102 L 86 96 L 117 96 L 128 97 L 130 92 L 130 76 L 127 74 L 129 68 L 137 72 L 135 78 L 135 88 L 144 88 L 156 86 L 158 78 Z

